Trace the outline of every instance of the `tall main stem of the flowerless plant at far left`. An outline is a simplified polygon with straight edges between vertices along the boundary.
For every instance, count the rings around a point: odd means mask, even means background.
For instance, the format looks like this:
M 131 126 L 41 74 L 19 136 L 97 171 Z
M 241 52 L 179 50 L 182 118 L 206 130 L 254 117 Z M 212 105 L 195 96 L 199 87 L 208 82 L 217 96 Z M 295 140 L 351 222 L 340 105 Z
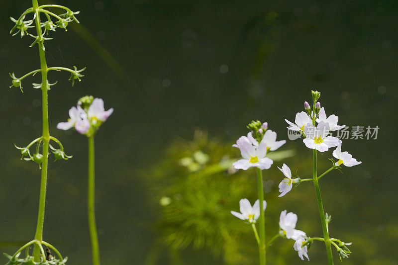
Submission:
M 35 10 L 35 25 L 37 36 L 42 35 L 40 27 L 39 4 L 37 0 L 32 0 L 33 9 Z M 41 90 L 42 90 L 42 112 L 43 112 L 43 162 L 41 165 L 41 183 L 40 183 L 40 198 L 39 198 L 39 213 L 37 217 L 37 227 L 35 239 L 41 242 L 43 240 L 43 224 L 44 224 L 44 209 L 46 204 L 46 185 L 47 185 L 47 166 L 48 166 L 48 143 L 50 140 L 50 132 L 48 129 L 48 99 L 47 99 L 47 62 L 43 50 L 43 40 L 38 42 L 40 69 L 41 69 Z M 35 262 L 40 261 L 40 249 L 35 245 L 33 250 Z

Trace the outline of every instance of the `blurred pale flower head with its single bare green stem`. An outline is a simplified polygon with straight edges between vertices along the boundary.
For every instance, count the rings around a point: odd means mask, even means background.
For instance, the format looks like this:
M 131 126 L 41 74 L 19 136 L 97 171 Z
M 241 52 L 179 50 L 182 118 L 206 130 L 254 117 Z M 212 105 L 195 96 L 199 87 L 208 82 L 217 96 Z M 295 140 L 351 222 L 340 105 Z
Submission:
M 94 135 L 100 129 L 101 124 L 112 114 L 113 108 L 105 111 L 103 100 L 93 96 L 84 96 L 79 99 L 77 107 L 69 110 L 67 122 L 60 122 L 57 128 L 69 130 L 75 128 L 80 134 L 86 135 L 89 140 L 89 181 L 87 210 L 91 246 L 93 253 L 93 265 L 100 265 L 100 247 L 98 243 L 96 215 L 95 215 L 95 149 Z

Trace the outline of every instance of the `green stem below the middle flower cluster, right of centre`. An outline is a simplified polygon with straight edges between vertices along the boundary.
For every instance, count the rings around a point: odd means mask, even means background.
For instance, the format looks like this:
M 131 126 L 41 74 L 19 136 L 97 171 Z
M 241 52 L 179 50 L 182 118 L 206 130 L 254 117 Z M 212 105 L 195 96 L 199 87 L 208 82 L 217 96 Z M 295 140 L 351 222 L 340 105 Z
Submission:
M 264 187 L 263 187 L 263 173 L 259 168 L 257 168 L 257 188 L 258 188 L 258 199 L 260 201 L 260 218 L 258 219 L 260 244 L 258 245 L 258 251 L 260 255 L 260 265 L 265 265 L 266 264 L 265 219 L 263 211 Z

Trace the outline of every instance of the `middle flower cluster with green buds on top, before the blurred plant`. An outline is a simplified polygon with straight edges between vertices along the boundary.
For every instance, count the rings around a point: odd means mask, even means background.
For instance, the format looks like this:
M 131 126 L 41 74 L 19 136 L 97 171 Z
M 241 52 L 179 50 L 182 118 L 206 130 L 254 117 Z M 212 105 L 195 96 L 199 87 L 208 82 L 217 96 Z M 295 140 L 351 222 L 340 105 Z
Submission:
M 277 141 L 277 133 L 269 130 L 266 122 L 252 121 L 247 127 L 251 130 L 247 136 L 241 136 L 232 145 L 239 148 L 243 158 L 233 163 L 233 167 L 237 170 L 248 170 L 251 167 L 267 170 L 274 163 L 266 157 L 267 153 L 277 150 L 286 140 Z

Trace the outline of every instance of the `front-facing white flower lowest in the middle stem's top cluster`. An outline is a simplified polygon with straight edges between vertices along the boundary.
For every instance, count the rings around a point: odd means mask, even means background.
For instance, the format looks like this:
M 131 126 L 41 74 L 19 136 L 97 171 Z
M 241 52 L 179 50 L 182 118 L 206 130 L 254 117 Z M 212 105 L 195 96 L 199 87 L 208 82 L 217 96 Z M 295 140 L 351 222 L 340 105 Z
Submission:
M 247 170 L 251 167 L 258 167 L 261 170 L 267 170 L 274 163 L 271 159 L 265 157 L 267 155 L 267 144 L 263 138 L 259 144 L 252 134 L 241 136 L 236 144 L 232 145 L 240 150 L 243 159 L 240 159 L 232 164 L 232 166 L 239 170 Z

